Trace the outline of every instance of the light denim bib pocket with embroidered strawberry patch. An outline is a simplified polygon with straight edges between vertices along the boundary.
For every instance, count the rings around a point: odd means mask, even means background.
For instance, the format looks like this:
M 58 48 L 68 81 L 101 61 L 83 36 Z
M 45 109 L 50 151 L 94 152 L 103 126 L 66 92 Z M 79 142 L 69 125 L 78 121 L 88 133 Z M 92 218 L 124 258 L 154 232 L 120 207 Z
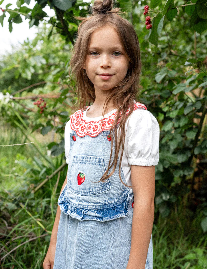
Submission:
M 75 155 L 68 170 L 68 188 L 79 195 L 92 195 L 111 189 L 109 180 L 97 182 L 106 172 L 103 157 Z

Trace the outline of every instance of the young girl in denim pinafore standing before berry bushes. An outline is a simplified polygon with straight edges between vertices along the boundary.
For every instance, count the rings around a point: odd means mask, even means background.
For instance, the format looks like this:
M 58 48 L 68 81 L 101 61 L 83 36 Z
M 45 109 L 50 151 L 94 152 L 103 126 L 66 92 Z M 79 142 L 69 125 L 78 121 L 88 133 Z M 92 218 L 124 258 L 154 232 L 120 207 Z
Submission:
M 68 172 L 43 267 L 152 269 L 159 124 L 135 101 L 141 58 L 132 25 L 111 0 L 92 11 L 80 18 L 71 59 L 80 110 L 65 126 Z

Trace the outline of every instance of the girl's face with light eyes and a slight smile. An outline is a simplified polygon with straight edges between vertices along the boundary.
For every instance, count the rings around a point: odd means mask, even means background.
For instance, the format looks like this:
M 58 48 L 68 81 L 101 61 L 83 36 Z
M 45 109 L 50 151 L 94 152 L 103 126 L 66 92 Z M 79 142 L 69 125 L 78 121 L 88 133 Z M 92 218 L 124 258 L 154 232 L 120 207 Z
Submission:
M 96 90 L 109 90 L 126 76 L 129 60 L 117 32 L 105 26 L 92 33 L 83 69 Z

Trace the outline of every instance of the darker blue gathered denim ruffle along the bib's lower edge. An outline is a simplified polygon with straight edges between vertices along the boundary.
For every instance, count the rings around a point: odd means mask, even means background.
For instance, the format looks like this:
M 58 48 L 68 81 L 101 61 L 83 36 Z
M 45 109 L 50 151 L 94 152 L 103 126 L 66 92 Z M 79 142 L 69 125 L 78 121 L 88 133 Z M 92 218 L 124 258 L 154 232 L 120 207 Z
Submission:
M 74 207 L 70 204 L 70 202 L 65 197 L 65 186 L 62 191 L 59 199 L 58 205 L 60 206 L 61 211 L 65 214 L 70 215 L 72 218 L 77 218 L 78 220 L 97 220 L 97 221 L 107 221 L 114 220 L 120 217 L 126 217 L 128 213 L 129 202 L 133 199 L 134 194 L 133 190 L 130 189 L 128 196 L 121 203 L 113 207 L 100 208 L 100 209 L 87 209 L 87 208 L 79 208 Z

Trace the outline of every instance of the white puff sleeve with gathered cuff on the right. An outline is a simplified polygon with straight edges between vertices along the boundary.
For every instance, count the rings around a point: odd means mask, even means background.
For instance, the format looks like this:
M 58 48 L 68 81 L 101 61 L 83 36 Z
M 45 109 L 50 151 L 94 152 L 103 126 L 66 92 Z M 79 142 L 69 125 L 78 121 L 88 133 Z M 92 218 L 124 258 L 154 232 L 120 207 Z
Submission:
M 126 151 L 130 165 L 150 166 L 159 162 L 160 128 L 148 110 L 133 111 L 127 124 Z

